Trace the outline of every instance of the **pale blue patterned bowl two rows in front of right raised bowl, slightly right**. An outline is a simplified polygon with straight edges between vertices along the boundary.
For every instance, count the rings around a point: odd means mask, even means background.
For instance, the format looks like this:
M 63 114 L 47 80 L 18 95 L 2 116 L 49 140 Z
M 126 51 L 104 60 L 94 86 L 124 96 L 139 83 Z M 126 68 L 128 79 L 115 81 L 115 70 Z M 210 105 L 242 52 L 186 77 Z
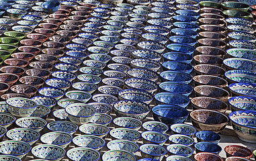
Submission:
M 105 140 L 99 138 L 97 136 L 91 135 L 82 135 L 73 138 L 72 140 L 75 146 L 83 147 L 83 148 L 92 148 L 95 150 L 101 150 L 103 146 L 105 146 Z

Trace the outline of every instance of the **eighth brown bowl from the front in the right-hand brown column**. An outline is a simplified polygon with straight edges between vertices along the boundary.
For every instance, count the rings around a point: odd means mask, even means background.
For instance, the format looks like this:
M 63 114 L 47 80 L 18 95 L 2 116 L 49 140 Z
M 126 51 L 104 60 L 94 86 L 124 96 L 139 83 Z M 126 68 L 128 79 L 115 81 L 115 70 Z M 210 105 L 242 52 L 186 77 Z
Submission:
M 210 38 L 202 38 L 198 40 L 199 46 L 212 46 L 216 48 L 224 49 L 226 47 L 226 43 L 221 40 L 210 39 Z

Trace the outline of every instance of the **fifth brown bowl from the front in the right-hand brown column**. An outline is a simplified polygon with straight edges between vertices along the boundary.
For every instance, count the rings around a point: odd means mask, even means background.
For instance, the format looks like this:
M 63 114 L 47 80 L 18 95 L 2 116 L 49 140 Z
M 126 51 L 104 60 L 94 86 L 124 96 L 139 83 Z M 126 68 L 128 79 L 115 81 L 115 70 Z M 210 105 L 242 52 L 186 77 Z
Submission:
M 196 74 L 208 74 L 214 76 L 224 76 L 224 73 L 226 72 L 224 68 L 210 64 L 198 64 L 194 66 L 194 70 Z

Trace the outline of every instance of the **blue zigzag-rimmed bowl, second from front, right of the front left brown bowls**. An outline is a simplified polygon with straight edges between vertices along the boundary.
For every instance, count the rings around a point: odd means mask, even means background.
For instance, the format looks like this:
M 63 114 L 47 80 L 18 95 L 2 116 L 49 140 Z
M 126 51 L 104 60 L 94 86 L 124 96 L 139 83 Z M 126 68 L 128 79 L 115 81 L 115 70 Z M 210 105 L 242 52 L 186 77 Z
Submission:
M 46 97 L 54 98 L 57 101 L 65 95 L 64 90 L 58 89 L 56 87 L 44 87 L 44 88 L 38 89 L 38 93 Z

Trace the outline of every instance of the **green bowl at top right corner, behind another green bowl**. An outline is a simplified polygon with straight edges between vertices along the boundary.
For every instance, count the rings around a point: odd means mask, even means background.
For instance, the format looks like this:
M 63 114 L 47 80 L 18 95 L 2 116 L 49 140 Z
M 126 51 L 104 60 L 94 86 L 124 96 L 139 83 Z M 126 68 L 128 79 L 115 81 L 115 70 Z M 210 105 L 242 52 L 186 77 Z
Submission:
M 226 1 L 221 3 L 224 9 L 236 9 L 239 11 L 248 11 L 250 5 L 236 1 Z

